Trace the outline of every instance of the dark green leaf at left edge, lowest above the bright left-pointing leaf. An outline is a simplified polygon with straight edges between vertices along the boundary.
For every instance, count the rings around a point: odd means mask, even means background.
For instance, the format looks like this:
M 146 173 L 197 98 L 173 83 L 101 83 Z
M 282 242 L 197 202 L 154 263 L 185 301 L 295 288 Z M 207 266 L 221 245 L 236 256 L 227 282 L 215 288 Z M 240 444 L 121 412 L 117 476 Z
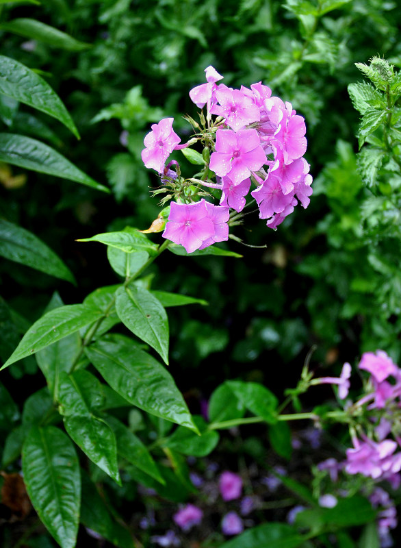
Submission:
M 46 244 L 4 219 L 0 219 L 0 255 L 75 284 L 73 273 Z

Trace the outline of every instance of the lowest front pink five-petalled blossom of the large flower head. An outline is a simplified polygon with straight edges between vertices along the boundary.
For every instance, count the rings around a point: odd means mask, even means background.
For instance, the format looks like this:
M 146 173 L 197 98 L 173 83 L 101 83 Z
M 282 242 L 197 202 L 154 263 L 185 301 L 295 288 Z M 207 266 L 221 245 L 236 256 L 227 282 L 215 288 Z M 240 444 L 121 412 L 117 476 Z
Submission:
M 192 253 L 202 243 L 214 236 L 214 222 L 209 218 L 205 200 L 196 203 L 176 203 L 170 205 L 170 214 L 162 236 L 182 245 L 187 253 Z

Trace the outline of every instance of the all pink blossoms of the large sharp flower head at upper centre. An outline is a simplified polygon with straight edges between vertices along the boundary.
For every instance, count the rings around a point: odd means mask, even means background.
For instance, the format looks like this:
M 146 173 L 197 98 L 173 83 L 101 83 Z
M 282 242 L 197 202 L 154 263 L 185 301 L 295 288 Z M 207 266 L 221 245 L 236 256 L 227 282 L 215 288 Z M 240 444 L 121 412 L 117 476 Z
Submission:
M 207 142 L 210 160 L 205 177 L 197 182 L 217 188 L 221 197 L 214 206 L 209 201 L 199 202 L 196 192 L 189 199 L 180 194 L 181 190 L 175 193 L 163 236 L 183 245 L 188 253 L 228 240 L 229 212 L 242 212 L 249 193 L 259 206 L 259 217 L 273 229 L 294 211 L 298 201 L 307 208 L 312 193 L 309 164 L 303 158 L 307 149 L 305 120 L 291 103 L 272 97 L 270 88 L 261 82 L 238 90 L 217 84 L 223 77 L 213 66 L 205 73 L 206 84 L 190 90 L 196 106 L 207 108 L 207 139 L 203 144 Z M 218 118 L 212 121 L 212 115 Z M 170 153 L 202 140 L 197 136 L 179 145 L 172 121 L 167 118 L 153 124 L 142 151 L 145 166 L 155 169 L 162 182 L 166 182 L 163 177 Z M 210 182 L 210 172 L 216 176 L 216 183 Z M 177 183 L 177 176 L 171 179 Z M 252 184 L 256 188 L 250 192 Z M 198 203 L 203 205 L 195 208 Z

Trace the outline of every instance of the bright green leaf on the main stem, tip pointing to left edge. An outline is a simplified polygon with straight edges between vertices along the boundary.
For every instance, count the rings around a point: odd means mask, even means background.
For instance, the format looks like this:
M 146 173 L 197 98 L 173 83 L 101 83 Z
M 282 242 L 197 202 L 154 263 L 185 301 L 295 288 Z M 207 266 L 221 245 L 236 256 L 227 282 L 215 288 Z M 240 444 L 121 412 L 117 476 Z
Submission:
M 101 315 L 96 308 L 83 304 L 66 305 L 47 312 L 29 328 L 1 369 L 77 332 L 81 327 L 99 319 Z

